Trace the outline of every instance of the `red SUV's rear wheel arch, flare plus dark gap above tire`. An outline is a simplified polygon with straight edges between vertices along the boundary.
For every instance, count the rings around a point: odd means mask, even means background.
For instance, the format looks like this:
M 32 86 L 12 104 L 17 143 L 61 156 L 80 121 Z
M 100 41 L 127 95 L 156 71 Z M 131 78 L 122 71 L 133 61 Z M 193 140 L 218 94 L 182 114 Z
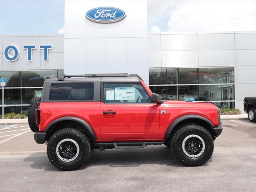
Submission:
M 63 128 L 66 128 L 68 126 L 75 126 L 78 129 L 83 129 L 85 132 L 87 132 L 87 134 L 90 135 L 92 140 L 97 140 L 97 136 L 92 126 L 90 126 L 90 124 L 85 120 L 78 117 L 74 117 L 74 116 L 61 117 L 52 121 L 45 129 L 46 138 L 50 139 L 50 136 L 52 136 L 58 130 L 62 129 L 62 128 L 58 128 L 58 127 L 55 128 L 55 127 L 58 125 L 63 126 L 63 124 L 65 125 Z

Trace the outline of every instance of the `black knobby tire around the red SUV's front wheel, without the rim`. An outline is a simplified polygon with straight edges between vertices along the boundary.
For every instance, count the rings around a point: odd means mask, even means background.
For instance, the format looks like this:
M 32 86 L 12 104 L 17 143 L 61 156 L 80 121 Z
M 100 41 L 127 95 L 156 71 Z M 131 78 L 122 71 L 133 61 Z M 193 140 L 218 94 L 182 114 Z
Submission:
M 182 142 L 191 134 L 200 136 L 205 143 L 204 152 L 196 158 L 187 156 L 182 150 Z M 210 132 L 196 124 L 186 124 L 176 129 L 171 136 L 170 146 L 174 157 L 186 166 L 200 166 L 206 163 L 214 150 L 214 142 Z

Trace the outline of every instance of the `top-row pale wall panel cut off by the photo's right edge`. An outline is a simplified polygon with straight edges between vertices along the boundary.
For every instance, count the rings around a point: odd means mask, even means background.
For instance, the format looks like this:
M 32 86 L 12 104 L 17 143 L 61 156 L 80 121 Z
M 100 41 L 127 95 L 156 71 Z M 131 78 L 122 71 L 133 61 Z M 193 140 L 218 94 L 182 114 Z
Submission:
M 236 49 L 256 49 L 256 33 L 236 33 Z

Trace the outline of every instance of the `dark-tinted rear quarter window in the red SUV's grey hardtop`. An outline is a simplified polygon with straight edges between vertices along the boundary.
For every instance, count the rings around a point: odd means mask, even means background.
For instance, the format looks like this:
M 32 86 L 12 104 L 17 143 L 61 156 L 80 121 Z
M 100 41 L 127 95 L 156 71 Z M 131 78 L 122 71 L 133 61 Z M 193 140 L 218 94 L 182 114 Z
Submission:
M 52 83 L 49 100 L 93 100 L 94 83 Z

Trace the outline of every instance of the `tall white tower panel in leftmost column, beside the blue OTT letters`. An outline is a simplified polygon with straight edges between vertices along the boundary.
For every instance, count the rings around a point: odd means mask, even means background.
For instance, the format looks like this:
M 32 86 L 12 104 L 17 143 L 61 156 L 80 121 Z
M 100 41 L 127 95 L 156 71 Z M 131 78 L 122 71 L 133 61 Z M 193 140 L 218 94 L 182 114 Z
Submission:
M 85 74 L 85 39 L 64 39 L 64 44 L 64 74 Z

